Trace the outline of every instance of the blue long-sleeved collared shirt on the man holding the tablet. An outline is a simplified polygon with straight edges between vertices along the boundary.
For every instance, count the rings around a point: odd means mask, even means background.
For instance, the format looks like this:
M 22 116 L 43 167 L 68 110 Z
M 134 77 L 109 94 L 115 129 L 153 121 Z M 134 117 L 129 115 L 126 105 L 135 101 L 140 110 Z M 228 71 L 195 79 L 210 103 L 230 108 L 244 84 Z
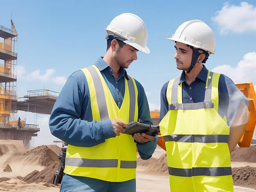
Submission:
M 119 69 L 119 77 L 115 80 L 113 69 L 99 58 L 95 65 L 101 71 L 110 92 L 120 108 L 124 100 L 125 81 L 129 79 L 124 68 Z M 148 101 L 144 88 L 135 80 L 138 89 L 138 118 L 145 124 L 153 125 L 150 118 Z M 74 72 L 65 83 L 49 119 L 51 133 L 57 138 L 80 147 L 92 147 L 115 137 L 110 119 L 92 121 L 92 109 L 88 83 L 83 71 Z M 141 159 L 152 156 L 157 143 L 157 137 L 147 143 L 137 143 Z

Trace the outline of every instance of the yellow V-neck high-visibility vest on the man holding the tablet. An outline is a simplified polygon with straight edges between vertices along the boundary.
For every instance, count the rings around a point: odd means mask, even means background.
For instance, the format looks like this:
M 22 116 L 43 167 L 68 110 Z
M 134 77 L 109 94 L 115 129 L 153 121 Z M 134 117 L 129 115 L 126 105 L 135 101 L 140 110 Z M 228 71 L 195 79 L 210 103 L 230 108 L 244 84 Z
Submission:
M 124 78 L 124 100 L 119 109 L 99 69 L 92 65 L 81 70 L 88 81 L 93 120 L 137 121 L 138 90 L 131 76 L 129 80 Z M 128 181 L 136 176 L 136 155 L 136 143 L 128 134 L 108 138 L 93 147 L 68 145 L 64 172 L 103 181 Z

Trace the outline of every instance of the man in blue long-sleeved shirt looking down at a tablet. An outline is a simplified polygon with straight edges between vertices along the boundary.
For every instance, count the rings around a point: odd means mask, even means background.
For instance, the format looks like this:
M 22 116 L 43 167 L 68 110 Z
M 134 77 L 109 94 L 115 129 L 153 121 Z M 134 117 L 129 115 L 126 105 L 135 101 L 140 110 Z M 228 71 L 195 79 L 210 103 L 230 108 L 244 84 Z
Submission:
M 68 143 L 61 192 L 135 192 L 137 149 L 149 159 L 156 148 L 155 136 L 123 134 L 132 121 L 152 125 L 144 89 L 125 70 L 137 51 L 150 53 L 146 25 L 123 13 L 105 30 L 105 56 L 67 79 L 49 119 Z

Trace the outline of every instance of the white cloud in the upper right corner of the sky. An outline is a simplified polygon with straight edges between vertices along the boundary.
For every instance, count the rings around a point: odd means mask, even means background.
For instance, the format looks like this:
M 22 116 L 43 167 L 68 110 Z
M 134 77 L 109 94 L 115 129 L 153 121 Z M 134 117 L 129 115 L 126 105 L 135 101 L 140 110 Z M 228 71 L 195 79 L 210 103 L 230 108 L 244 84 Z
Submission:
M 241 2 L 239 6 L 225 3 L 212 20 L 219 25 L 223 34 L 228 31 L 235 33 L 256 31 L 256 7 L 247 2 Z

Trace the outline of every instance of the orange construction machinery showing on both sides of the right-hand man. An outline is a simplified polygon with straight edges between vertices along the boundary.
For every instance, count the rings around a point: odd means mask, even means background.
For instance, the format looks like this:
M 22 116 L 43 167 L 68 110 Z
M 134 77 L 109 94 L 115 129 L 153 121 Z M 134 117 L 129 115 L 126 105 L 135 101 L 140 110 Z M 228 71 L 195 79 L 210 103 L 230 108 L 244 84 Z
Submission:
M 252 83 L 239 83 L 236 87 L 248 98 L 249 100 L 249 121 L 245 127 L 245 132 L 238 142 L 239 147 L 250 147 L 252 143 L 252 137 L 254 134 L 254 129 L 256 126 L 256 94 Z M 153 124 L 159 124 L 159 111 L 151 111 L 150 116 L 152 118 Z M 166 150 L 164 137 L 158 134 L 157 145 L 162 149 Z

